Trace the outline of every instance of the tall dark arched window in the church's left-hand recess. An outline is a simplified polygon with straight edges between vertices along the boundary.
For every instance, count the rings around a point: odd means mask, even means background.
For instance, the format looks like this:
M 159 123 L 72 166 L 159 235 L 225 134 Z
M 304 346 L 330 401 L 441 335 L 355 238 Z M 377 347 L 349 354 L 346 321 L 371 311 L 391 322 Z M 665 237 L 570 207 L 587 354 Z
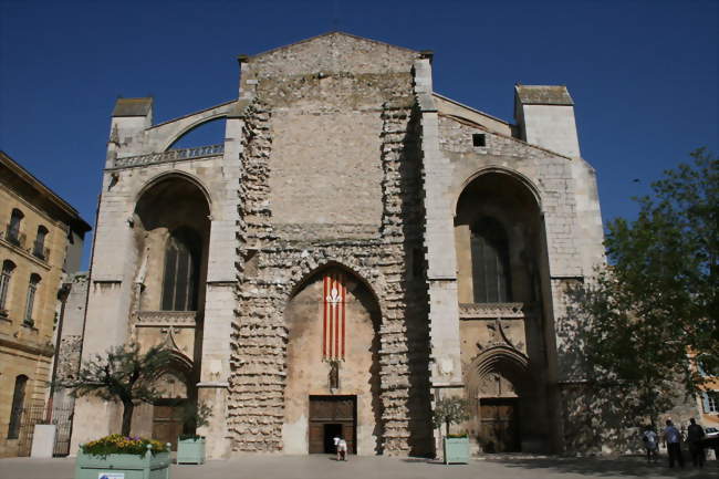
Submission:
M 200 244 L 199 237 L 189 228 L 173 231 L 167 240 L 161 310 L 197 310 Z

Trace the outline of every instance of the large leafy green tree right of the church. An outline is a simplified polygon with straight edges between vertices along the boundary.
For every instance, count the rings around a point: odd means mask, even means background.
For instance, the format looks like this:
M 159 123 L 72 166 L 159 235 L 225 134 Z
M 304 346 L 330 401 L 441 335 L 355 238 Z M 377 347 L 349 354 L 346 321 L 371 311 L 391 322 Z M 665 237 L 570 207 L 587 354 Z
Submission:
M 569 312 L 583 320 L 570 333 L 627 419 L 654 424 L 695 395 L 694 358 L 718 371 L 719 162 L 704 148 L 690 156 L 637 199 L 635 221 L 607 225 L 609 265 L 570 291 Z

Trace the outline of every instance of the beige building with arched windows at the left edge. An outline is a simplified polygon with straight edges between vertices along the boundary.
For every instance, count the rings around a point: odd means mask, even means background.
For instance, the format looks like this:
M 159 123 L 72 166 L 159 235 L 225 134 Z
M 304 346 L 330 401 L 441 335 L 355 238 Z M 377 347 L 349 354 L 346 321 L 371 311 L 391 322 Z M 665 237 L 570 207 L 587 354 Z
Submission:
M 0 152 L 0 457 L 28 455 L 45 406 L 58 294 L 90 226 Z

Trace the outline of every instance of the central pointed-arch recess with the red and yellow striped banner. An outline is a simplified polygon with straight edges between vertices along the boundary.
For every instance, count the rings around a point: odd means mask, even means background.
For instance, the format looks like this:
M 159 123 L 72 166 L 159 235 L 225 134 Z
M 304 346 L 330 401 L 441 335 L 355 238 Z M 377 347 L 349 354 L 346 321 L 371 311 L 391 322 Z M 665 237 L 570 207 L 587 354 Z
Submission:
M 331 452 L 336 434 L 352 452 L 382 452 L 381 319 L 376 294 L 346 267 L 325 264 L 293 289 L 284 310 L 285 452 Z

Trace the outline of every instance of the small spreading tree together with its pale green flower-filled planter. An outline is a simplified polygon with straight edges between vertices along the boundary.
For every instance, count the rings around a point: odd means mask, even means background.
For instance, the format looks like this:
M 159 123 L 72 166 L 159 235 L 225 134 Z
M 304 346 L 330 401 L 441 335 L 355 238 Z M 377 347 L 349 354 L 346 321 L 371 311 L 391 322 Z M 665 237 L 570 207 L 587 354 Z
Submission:
M 59 388 L 72 389 L 73 397 L 95 395 L 123 405 L 121 434 L 81 445 L 75 461 L 75 479 L 97 479 L 103 472 L 126 478 L 169 477 L 168 445 L 129 435 L 135 404 L 152 404 L 159 397 L 155 378 L 168 362 L 169 353 L 161 346 L 142 354 L 137 344 L 123 345 L 93 356 L 74 378 L 56 383 Z

